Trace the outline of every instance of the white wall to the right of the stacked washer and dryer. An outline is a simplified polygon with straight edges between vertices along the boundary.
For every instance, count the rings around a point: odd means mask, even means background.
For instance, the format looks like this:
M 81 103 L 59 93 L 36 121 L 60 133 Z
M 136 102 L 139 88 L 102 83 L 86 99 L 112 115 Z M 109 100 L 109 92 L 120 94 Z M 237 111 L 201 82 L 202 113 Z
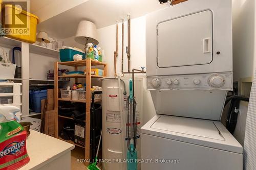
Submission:
M 253 77 L 256 66 L 255 1 L 233 0 L 233 80 Z M 243 145 L 248 102 L 241 102 L 234 137 Z

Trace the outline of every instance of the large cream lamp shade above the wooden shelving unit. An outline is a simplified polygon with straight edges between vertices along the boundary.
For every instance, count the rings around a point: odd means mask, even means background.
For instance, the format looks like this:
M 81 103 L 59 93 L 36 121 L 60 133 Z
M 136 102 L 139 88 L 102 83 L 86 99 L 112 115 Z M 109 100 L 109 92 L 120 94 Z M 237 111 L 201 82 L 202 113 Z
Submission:
M 95 24 L 91 21 L 82 20 L 77 27 L 75 41 L 79 44 L 86 44 L 87 39 L 88 42 L 94 45 L 98 45 L 99 43 Z

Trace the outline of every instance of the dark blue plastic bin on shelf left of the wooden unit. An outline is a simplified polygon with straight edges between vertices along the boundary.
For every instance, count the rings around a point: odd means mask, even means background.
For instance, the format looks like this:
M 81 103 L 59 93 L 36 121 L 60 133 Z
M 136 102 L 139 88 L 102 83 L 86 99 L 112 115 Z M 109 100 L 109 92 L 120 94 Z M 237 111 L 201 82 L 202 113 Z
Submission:
M 47 98 L 47 90 L 36 90 L 36 91 L 30 91 L 30 108 L 36 112 L 41 113 L 41 100 Z

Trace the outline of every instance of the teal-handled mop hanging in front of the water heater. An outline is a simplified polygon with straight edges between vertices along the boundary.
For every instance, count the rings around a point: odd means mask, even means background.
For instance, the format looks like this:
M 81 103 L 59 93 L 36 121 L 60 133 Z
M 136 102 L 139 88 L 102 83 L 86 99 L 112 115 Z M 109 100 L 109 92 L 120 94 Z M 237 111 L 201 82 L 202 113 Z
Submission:
M 133 95 L 133 81 L 130 79 L 130 95 L 126 101 L 127 170 L 137 170 L 137 118 L 136 101 Z M 129 122 L 130 120 L 130 122 Z M 131 129 L 130 129 L 131 126 Z

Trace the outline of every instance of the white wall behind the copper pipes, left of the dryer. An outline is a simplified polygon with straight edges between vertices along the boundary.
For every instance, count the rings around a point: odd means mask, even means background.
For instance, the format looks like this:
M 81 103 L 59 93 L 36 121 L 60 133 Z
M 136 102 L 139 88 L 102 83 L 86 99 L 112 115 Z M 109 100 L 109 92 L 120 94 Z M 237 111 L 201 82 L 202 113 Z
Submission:
M 146 41 L 145 41 L 145 16 L 131 19 L 131 69 L 146 66 Z M 121 23 L 118 24 L 118 58 L 117 72 L 121 72 Z M 103 60 L 108 63 L 108 76 L 114 76 L 114 51 L 116 50 L 116 25 L 98 29 L 99 46 L 104 49 Z M 127 71 L 127 56 L 125 47 L 127 46 L 127 22 L 124 22 L 124 71 Z M 128 76 L 128 75 L 127 75 Z M 147 123 L 156 111 L 149 91 L 145 90 L 145 75 L 143 82 L 143 124 Z

